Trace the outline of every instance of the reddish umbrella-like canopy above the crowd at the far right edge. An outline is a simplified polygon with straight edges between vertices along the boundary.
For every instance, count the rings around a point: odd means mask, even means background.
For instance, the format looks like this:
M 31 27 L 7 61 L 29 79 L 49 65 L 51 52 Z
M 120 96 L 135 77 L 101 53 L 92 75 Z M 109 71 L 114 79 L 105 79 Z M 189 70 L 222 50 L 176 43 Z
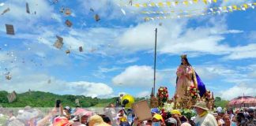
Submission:
M 235 107 L 235 108 L 256 106 L 256 98 L 251 96 L 241 96 L 241 97 L 232 99 L 228 103 L 228 106 Z

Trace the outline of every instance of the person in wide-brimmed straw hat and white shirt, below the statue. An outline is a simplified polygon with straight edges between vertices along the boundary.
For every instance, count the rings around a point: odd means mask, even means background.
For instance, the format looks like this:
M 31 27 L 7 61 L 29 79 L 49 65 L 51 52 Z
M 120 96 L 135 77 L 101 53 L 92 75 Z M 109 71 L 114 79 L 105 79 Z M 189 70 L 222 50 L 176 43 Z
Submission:
M 205 102 L 197 102 L 194 106 L 194 111 L 197 117 L 194 119 L 196 126 L 217 126 L 215 117 L 208 113 L 209 109 L 206 107 Z

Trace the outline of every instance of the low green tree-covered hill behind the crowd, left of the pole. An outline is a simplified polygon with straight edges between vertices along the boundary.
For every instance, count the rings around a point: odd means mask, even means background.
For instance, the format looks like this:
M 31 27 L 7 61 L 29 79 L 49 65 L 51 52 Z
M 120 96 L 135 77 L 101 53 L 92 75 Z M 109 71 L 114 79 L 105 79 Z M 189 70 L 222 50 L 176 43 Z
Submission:
M 55 95 L 49 92 L 31 91 L 17 94 L 17 99 L 9 103 L 7 91 L 0 91 L 0 105 L 3 107 L 53 107 L 57 99 L 62 101 L 62 106 L 77 106 L 75 100 L 78 98 L 82 107 L 106 106 L 114 103 L 116 98 L 91 98 L 84 95 Z M 101 106 L 100 106 L 101 107 Z

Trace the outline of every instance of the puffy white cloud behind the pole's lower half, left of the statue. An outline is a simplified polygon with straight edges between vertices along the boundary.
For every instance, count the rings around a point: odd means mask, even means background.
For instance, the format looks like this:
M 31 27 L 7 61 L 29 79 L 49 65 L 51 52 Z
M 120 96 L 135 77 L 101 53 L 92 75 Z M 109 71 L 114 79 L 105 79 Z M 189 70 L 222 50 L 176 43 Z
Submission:
M 146 65 L 133 65 L 126 68 L 118 76 L 112 79 L 115 85 L 119 86 L 151 86 L 153 83 L 154 71 Z M 161 80 L 161 75 L 156 73 L 156 78 Z

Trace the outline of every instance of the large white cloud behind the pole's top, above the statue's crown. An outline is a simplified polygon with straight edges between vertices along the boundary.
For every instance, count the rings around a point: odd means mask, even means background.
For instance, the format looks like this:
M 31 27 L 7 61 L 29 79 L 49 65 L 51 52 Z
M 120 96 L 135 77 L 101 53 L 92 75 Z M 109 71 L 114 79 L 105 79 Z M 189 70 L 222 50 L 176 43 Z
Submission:
M 186 20 L 164 20 L 164 26 L 158 28 L 157 48 L 164 54 L 204 53 L 228 54 L 230 47 L 221 44 L 224 37 L 220 31 L 224 24 L 215 23 L 213 27 L 186 28 Z M 152 50 L 154 47 L 154 28 L 156 24 L 143 23 L 128 28 L 120 35 L 118 45 L 127 51 Z M 186 45 L 186 46 L 184 46 Z

